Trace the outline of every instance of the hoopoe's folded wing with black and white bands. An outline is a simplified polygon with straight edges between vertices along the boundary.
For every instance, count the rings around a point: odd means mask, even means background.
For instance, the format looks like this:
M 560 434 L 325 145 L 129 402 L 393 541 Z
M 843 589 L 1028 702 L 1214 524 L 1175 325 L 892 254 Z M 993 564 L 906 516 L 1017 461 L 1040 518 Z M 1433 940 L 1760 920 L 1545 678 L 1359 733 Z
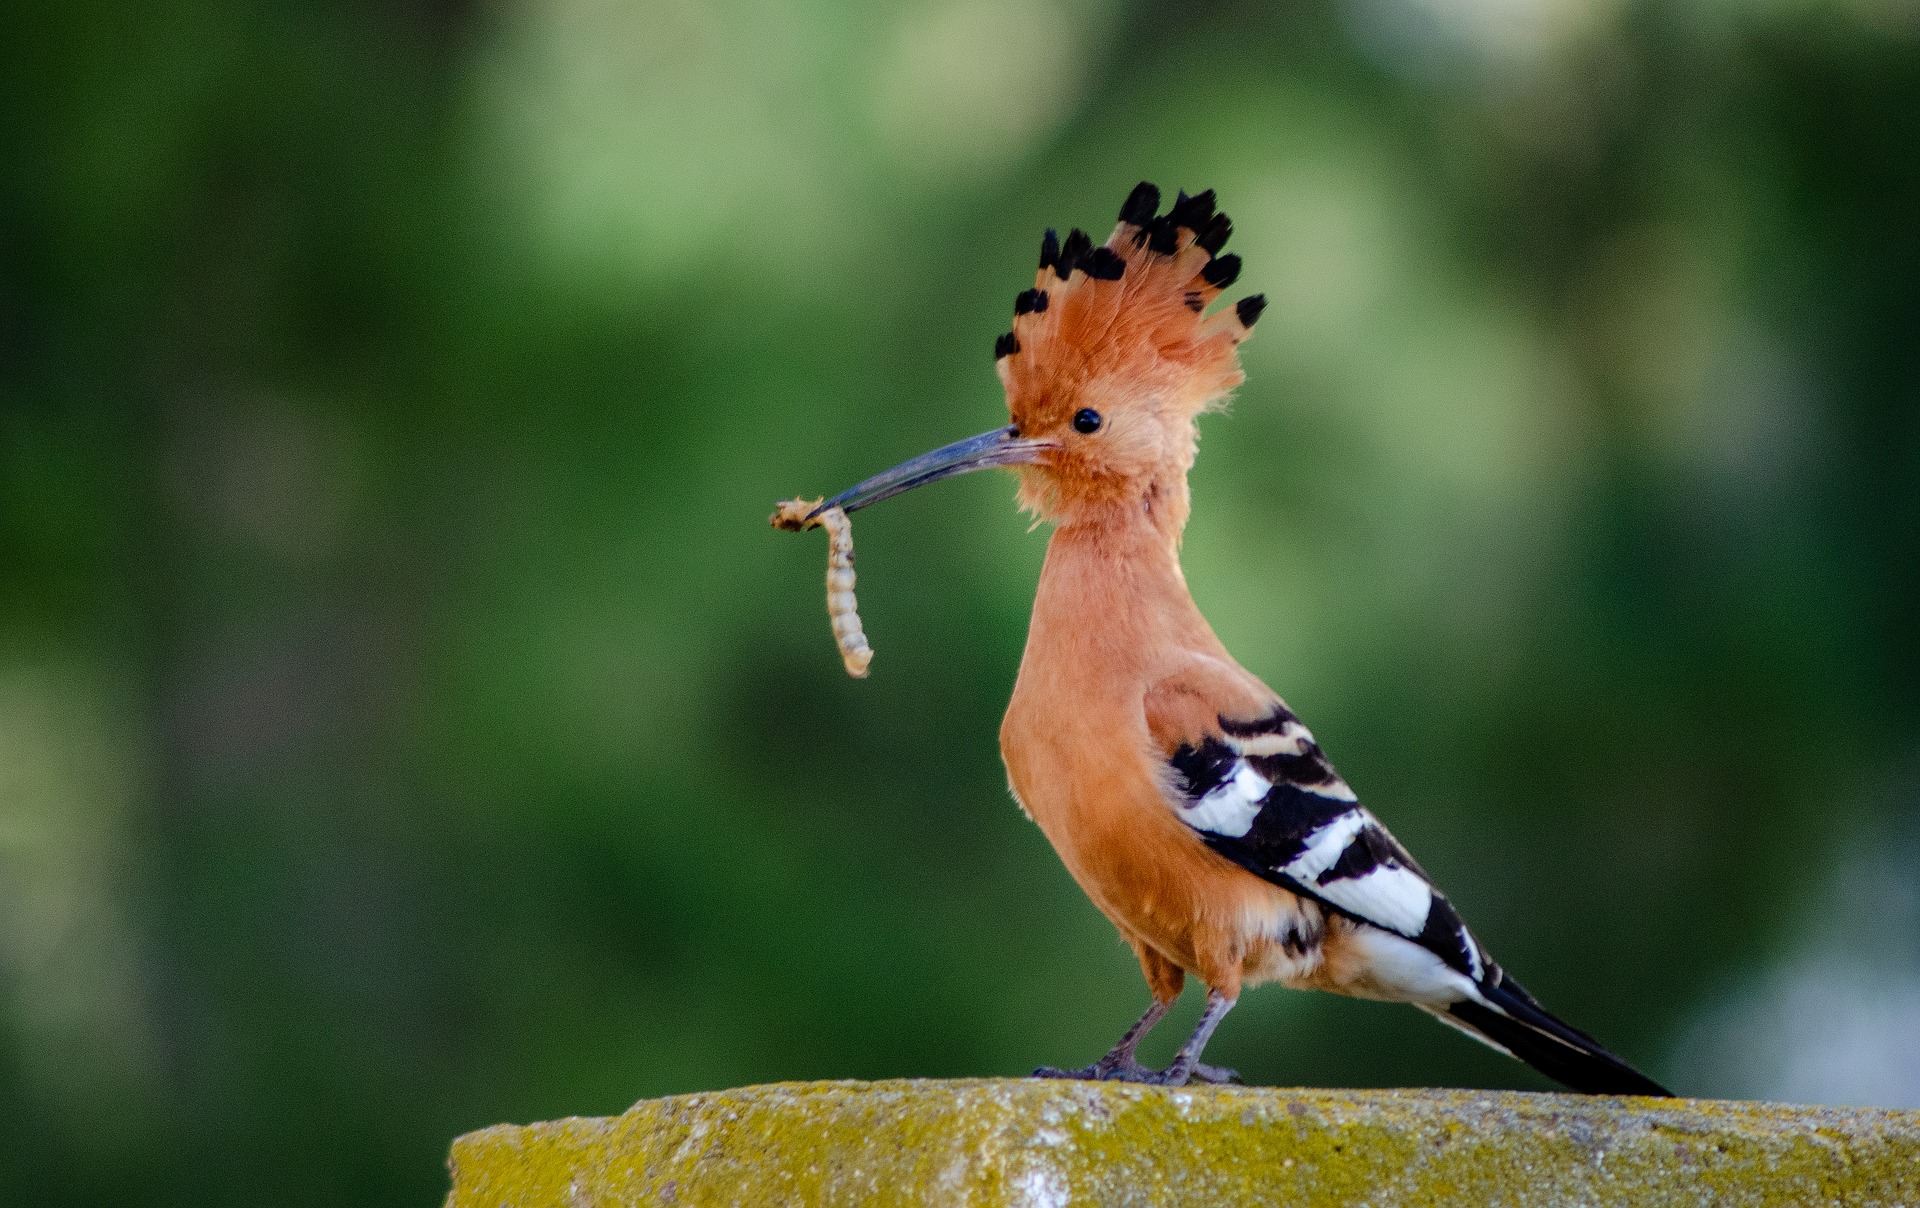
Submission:
M 1354 797 L 1284 705 L 1167 757 L 1173 805 L 1213 851 L 1336 914 L 1417 943 L 1475 983 L 1498 978 L 1459 914 Z

